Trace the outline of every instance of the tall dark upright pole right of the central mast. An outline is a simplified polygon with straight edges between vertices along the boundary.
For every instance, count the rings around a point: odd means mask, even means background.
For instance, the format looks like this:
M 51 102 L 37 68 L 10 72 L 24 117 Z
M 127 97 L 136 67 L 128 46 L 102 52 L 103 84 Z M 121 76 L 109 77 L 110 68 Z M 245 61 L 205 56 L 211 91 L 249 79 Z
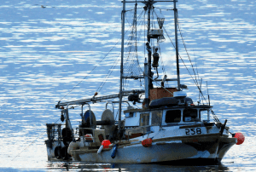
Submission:
M 177 9 L 176 0 L 173 1 L 174 11 L 174 25 L 175 25 L 175 49 L 176 49 L 176 63 L 177 63 L 177 91 L 180 91 L 180 77 L 179 77 L 179 64 L 178 64 L 178 48 L 177 48 Z

